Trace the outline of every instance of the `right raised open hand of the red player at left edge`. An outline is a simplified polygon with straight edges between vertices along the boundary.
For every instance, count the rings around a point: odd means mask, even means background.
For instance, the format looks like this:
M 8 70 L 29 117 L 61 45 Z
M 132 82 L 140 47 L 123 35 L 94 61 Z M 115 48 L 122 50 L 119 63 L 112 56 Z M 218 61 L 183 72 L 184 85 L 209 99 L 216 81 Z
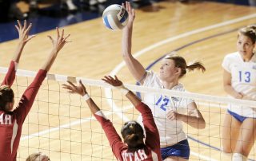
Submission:
M 53 50 L 55 53 L 58 53 L 59 50 L 62 49 L 62 47 L 70 42 L 70 41 L 67 41 L 67 38 L 70 37 L 70 34 L 68 34 L 66 37 L 64 37 L 64 29 L 62 29 L 62 33 L 60 34 L 59 33 L 59 29 L 58 27 L 56 27 L 56 32 L 57 32 L 57 37 L 56 39 L 53 39 L 53 37 L 51 37 L 50 35 L 48 35 L 48 37 L 50 38 L 52 44 L 53 44 Z

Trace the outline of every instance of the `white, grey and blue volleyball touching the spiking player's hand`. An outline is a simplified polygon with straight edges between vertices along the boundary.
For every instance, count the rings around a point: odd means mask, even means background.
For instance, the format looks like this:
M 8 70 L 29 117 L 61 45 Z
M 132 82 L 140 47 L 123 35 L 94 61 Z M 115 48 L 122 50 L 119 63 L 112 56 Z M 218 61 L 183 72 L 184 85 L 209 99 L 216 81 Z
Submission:
M 104 10 L 102 20 L 108 29 L 122 29 L 128 22 L 128 12 L 121 5 L 110 5 Z

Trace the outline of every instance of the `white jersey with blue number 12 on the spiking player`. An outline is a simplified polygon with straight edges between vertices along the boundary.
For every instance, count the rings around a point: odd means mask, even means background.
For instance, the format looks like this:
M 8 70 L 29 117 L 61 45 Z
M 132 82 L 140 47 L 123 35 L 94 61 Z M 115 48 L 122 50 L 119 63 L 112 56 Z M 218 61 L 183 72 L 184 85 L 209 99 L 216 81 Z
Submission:
M 152 71 L 147 72 L 143 86 L 164 88 L 158 75 Z M 178 84 L 174 86 L 172 90 L 185 91 L 185 88 L 182 84 Z M 174 110 L 184 114 L 187 112 L 187 105 L 194 102 L 194 100 L 150 93 L 144 94 L 142 99 L 153 113 L 154 121 L 160 135 L 161 146 L 165 147 L 186 139 L 186 134 L 182 130 L 182 121 L 168 120 L 166 113 L 170 110 Z

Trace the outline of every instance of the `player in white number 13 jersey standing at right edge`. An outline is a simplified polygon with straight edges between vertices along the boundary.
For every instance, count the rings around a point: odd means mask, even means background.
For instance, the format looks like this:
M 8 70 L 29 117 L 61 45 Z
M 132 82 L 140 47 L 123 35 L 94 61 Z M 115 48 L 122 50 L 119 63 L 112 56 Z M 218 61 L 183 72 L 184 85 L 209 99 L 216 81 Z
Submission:
M 222 62 L 223 85 L 232 97 L 256 100 L 256 26 L 238 31 L 238 52 L 226 55 Z M 256 106 L 255 106 L 256 107 Z M 246 160 L 256 136 L 256 109 L 230 104 L 222 131 L 222 151 L 233 153 L 234 161 Z

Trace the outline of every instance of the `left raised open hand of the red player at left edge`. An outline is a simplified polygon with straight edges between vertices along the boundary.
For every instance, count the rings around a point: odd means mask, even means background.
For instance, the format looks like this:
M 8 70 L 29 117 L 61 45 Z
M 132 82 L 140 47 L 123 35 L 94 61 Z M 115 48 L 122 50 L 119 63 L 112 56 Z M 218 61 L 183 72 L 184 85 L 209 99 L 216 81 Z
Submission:
M 22 23 L 18 22 L 18 25 L 15 25 L 15 28 L 18 30 L 18 38 L 19 38 L 19 41 L 22 43 L 22 44 L 26 44 L 26 42 L 30 41 L 33 37 L 35 37 L 35 35 L 31 35 L 29 36 L 29 33 L 30 33 L 30 29 L 32 27 L 32 23 L 30 23 L 29 26 L 27 26 L 27 23 L 26 23 L 26 20 L 24 21 L 24 24 L 22 26 Z

